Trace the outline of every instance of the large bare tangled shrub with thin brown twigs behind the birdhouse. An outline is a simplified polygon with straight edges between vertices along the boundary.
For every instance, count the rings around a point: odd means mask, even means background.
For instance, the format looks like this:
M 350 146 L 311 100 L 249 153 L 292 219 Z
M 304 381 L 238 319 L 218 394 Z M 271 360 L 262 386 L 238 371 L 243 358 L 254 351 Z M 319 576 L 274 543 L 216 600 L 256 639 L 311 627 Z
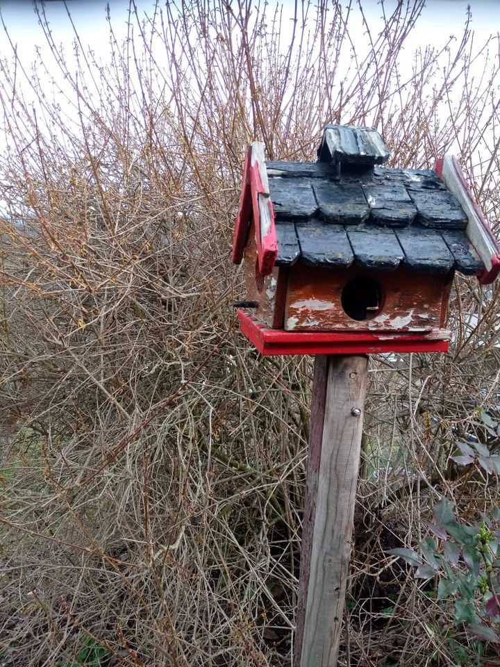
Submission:
M 131 3 L 106 67 L 75 26 L 77 74 L 41 9 L 51 59 L 1 61 L 3 664 L 96 645 L 109 664 L 290 664 L 310 360 L 262 359 L 238 334 L 242 156 L 259 139 L 314 160 L 327 122 L 376 124 L 392 165 L 455 147 L 497 220 L 498 38 L 467 26 L 403 67 L 423 4 L 382 6 L 377 34 L 364 19 L 363 49 L 336 1 L 299 3 L 291 33 L 264 4 L 144 19 Z M 498 297 L 457 278 L 449 355 L 373 359 L 350 664 L 453 658 L 451 612 L 385 549 L 418 541 L 441 495 L 474 513 L 497 493 L 449 456 L 458 434 L 484 438 L 476 406 L 498 411 Z

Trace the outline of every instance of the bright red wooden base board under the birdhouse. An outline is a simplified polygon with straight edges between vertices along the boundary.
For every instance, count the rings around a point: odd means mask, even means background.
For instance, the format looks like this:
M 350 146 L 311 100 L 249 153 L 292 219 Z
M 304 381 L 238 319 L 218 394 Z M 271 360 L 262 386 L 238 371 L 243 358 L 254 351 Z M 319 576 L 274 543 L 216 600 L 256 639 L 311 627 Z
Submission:
M 249 311 L 239 310 L 242 333 L 265 356 L 278 354 L 372 354 L 376 352 L 448 352 L 450 332 L 436 329 L 414 334 L 406 331 L 360 331 L 358 334 L 269 329 Z

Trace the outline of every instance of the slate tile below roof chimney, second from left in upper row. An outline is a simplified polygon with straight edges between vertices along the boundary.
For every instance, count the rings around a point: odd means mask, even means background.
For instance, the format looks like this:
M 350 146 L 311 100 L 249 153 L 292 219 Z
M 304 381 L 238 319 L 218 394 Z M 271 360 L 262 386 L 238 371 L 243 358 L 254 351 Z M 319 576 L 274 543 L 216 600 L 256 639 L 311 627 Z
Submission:
M 369 206 L 359 183 L 314 181 L 319 214 L 327 222 L 359 224 L 369 216 Z

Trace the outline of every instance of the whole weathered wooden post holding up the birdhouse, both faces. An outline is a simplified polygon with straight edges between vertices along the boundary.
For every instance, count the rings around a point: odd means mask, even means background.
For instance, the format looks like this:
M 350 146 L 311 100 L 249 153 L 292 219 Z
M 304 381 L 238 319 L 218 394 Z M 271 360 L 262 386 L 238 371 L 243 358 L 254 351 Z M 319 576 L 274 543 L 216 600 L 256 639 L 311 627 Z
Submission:
M 349 575 L 368 358 L 315 359 L 294 667 L 335 667 Z

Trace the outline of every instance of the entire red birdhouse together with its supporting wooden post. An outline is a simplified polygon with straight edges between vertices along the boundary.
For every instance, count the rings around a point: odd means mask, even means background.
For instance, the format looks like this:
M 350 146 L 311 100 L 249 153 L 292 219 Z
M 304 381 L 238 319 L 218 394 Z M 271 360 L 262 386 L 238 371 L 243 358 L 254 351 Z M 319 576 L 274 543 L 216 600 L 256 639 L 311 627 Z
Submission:
M 335 125 L 318 155 L 266 164 L 263 145 L 249 148 L 233 245 L 245 336 L 265 355 L 316 355 L 294 667 L 338 661 L 367 354 L 447 351 L 455 271 L 483 284 L 500 271 L 454 158 L 380 167 L 374 129 Z

